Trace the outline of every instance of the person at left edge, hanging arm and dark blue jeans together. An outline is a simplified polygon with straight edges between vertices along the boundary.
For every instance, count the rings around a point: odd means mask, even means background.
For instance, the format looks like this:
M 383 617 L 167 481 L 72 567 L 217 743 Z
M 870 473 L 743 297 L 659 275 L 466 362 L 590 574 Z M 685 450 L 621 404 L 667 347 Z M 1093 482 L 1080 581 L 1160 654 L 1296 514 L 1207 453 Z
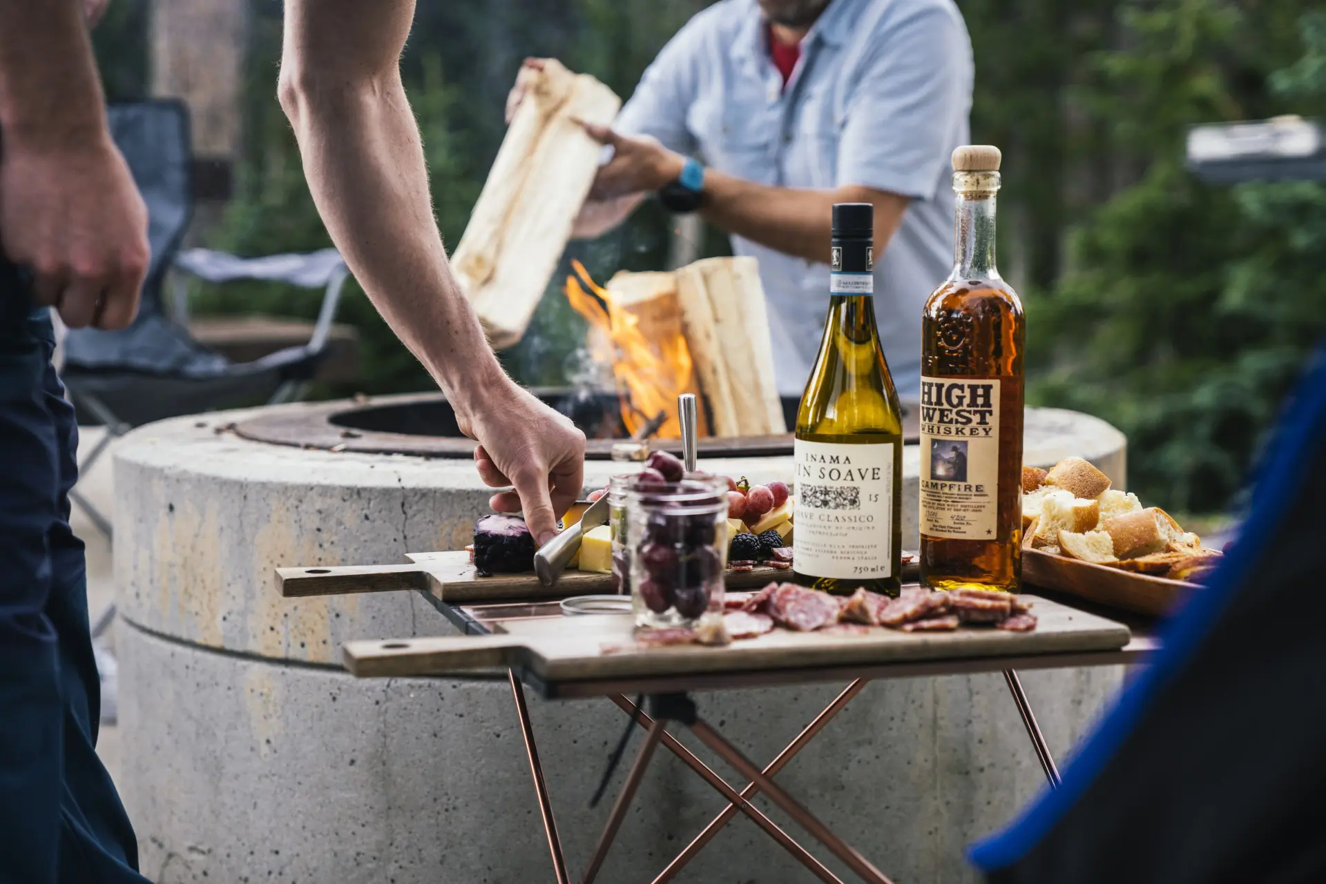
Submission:
M 78 0 L 0 0 L 0 884 L 139 884 L 97 758 L 84 545 L 69 527 L 73 408 L 50 309 L 118 329 L 147 213 L 106 130 Z M 24 268 L 20 270 L 20 268 Z

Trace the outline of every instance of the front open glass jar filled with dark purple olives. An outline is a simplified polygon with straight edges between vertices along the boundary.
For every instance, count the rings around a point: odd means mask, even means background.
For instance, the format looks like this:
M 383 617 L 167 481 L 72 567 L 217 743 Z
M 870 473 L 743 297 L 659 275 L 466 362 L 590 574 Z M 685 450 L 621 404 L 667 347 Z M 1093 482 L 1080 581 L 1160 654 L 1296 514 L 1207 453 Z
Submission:
M 688 477 L 623 492 L 636 626 L 695 626 L 723 611 L 727 490 L 724 478 Z

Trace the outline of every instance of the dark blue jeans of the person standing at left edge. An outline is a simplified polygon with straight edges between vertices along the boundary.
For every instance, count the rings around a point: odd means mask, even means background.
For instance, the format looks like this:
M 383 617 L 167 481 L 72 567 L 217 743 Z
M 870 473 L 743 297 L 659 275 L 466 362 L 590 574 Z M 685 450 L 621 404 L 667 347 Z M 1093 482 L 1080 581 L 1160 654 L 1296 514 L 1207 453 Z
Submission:
M 84 543 L 69 527 L 78 427 L 49 310 L 0 258 L 0 884 L 143 884 L 101 759 Z

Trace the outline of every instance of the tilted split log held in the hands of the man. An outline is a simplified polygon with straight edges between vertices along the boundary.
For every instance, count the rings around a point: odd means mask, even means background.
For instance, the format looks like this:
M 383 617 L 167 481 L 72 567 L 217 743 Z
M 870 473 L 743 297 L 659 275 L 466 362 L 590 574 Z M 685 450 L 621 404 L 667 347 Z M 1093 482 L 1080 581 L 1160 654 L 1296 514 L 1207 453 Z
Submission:
M 594 183 L 601 147 L 574 121 L 606 126 L 621 105 L 550 60 L 516 111 L 451 257 L 495 349 L 525 333 Z

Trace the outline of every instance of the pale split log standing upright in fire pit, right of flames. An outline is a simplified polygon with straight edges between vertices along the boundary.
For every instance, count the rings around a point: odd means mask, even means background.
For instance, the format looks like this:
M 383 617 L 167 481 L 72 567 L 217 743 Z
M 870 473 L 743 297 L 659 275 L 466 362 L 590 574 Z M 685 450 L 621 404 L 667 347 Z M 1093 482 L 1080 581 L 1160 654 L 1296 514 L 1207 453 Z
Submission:
M 705 258 L 675 272 L 686 341 L 715 436 L 788 432 L 753 257 Z

